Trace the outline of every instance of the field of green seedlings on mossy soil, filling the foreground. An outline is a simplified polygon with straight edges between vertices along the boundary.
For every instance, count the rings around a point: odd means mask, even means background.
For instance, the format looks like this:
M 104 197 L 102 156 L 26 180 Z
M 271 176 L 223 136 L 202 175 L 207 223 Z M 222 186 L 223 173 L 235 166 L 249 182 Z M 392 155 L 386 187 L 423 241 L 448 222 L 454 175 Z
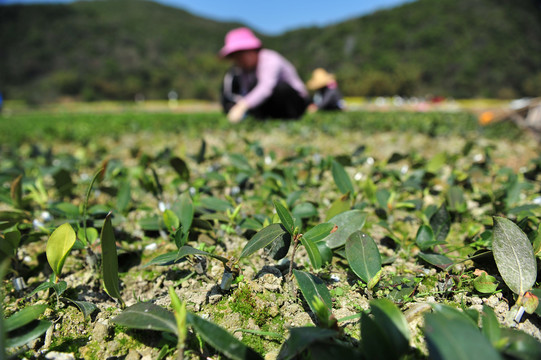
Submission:
M 11 116 L 2 358 L 541 358 L 541 157 L 509 123 Z

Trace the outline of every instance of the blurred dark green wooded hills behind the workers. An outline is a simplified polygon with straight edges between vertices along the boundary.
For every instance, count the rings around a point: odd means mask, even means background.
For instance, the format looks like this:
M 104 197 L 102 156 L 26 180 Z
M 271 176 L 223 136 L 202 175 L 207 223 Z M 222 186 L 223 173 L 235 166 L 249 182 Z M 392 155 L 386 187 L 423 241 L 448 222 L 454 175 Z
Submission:
M 216 55 L 240 24 L 143 0 L 0 6 L 0 91 L 31 102 L 216 99 Z M 541 94 L 541 1 L 418 0 L 323 28 L 260 34 L 304 79 L 318 66 L 346 95 Z

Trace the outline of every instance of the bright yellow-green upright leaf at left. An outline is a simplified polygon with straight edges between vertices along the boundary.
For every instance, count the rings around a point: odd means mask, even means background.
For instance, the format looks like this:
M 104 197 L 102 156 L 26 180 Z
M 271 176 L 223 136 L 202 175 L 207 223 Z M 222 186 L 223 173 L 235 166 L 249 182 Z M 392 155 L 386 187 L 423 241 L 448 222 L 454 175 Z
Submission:
M 75 231 L 73 231 L 70 224 L 65 223 L 53 231 L 47 241 L 47 247 L 45 249 L 47 261 L 57 278 L 62 273 L 62 267 L 71 248 L 75 244 L 75 239 Z

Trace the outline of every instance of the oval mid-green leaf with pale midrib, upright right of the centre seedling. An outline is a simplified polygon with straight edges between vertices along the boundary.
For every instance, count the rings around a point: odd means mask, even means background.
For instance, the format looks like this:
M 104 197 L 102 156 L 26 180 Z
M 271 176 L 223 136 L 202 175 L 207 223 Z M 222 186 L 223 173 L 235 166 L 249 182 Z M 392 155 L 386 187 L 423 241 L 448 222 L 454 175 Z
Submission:
M 349 267 L 364 282 L 369 283 L 381 270 L 381 256 L 374 239 L 356 231 L 346 241 Z

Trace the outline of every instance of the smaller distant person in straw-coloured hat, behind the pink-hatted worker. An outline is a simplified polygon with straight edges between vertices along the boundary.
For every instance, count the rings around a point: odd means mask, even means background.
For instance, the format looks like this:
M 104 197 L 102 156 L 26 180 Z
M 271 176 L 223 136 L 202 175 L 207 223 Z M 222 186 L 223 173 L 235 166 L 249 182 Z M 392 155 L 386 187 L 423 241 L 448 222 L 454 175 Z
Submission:
M 345 108 L 334 75 L 329 74 L 325 69 L 315 69 L 306 86 L 308 90 L 314 91 L 313 102 L 309 105 L 308 111 L 343 110 Z

